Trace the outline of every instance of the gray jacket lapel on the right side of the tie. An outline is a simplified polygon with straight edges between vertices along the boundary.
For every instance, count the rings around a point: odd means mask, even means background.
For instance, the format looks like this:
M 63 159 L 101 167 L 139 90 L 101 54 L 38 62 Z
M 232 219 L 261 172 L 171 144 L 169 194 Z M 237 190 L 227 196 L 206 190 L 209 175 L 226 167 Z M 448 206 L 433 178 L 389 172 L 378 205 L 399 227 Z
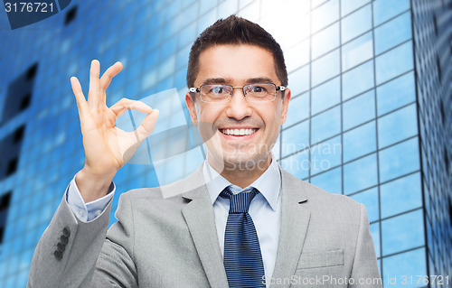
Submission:
M 307 196 L 300 180 L 279 167 L 282 177 L 281 228 L 278 254 L 270 287 L 288 287 L 282 280 L 290 279 L 297 269 L 298 259 L 305 242 L 310 211 L 303 207 Z M 277 281 L 280 281 L 278 283 Z

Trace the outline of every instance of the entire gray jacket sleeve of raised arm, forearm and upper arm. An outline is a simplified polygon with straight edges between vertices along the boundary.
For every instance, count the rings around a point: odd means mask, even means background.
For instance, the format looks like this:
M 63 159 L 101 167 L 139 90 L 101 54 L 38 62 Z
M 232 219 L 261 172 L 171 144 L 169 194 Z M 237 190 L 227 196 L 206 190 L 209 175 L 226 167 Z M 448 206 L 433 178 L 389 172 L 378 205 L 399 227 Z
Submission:
M 108 233 L 111 200 L 98 218 L 83 222 L 65 198 L 36 246 L 27 287 L 137 287 L 127 193 L 119 198 L 118 222 Z

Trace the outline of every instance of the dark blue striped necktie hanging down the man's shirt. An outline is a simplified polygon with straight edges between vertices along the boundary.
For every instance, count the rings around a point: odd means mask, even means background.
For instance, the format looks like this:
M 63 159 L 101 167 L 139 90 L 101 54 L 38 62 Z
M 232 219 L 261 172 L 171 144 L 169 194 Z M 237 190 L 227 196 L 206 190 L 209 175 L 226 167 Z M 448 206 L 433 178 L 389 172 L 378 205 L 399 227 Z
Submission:
M 248 213 L 251 200 L 259 193 L 232 194 L 229 187 L 220 196 L 230 200 L 228 222 L 224 234 L 224 268 L 231 288 L 265 288 L 264 264 L 260 254 L 259 238 Z

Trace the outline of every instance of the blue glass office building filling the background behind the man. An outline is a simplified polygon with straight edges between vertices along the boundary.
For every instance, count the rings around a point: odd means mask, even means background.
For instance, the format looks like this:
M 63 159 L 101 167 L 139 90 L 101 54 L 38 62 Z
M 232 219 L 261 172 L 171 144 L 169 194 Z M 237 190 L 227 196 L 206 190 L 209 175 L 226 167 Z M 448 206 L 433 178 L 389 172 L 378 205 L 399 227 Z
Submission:
M 70 77 L 86 93 L 90 60 L 103 70 L 121 60 L 108 106 L 176 88 L 175 101 L 155 107 L 187 124 L 191 44 L 230 14 L 261 24 L 285 52 L 292 99 L 278 162 L 366 206 L 385 287 L 443 287 L 447 276 L 451 285 L 451 10 L 450 0 L 72 1 L 16 30 L 2 10 L 0 287 L 25 286 L 37 241 L 84 163 Z M 158 121 L 174 127 L 171 116 Z M 192 172 L 202 147 L 173 160 L 173 169 L 123 167 L 113 209 L 122 192 Z

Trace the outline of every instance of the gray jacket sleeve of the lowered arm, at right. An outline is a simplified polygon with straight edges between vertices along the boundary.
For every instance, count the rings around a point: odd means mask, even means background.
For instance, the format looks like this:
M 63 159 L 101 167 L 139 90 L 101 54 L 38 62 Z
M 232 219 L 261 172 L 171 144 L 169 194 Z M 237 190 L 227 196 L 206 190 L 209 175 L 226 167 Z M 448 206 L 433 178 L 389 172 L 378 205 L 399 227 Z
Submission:
M 373 245 L 369 219 L 363 204 L 360 204 L 360 228 L 356 240 L 356 251 L 349 287 L 381 287 L 381 276 L 378 268 L 375 247 Z

